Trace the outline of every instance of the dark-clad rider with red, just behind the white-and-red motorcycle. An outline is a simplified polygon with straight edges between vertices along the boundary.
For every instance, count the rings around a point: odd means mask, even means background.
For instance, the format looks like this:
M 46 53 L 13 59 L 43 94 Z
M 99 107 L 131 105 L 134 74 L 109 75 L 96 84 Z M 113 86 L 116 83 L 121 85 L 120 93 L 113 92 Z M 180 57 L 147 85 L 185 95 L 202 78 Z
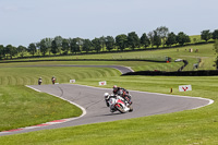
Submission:
M 124 98 L 124 100 L 126 100 L 129 104 L 131 102 L 131 96 L 129 94 L 129 92 L 125 88 L 122 87 L 118 87 L 117 85 L 113 86 L 113 92 L 114 95 L 119 95 L 122 98 Z

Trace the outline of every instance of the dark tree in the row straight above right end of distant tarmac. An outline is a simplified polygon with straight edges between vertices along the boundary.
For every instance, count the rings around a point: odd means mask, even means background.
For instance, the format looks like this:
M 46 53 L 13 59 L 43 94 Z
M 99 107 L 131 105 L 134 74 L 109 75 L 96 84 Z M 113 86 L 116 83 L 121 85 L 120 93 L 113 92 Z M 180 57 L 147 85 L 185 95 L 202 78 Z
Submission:
M 132 50 L 140 46 L 140 38 L 135 32 L 128 34 L 128 45 Z

